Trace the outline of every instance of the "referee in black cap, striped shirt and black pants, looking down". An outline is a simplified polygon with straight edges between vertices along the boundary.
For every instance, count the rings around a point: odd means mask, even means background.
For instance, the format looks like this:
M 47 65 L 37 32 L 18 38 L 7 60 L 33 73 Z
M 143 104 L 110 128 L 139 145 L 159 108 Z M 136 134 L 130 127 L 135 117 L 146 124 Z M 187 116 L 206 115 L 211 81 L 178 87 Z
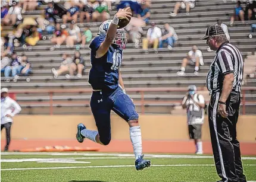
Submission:
M 207 28 L 206 44 L 216 51 L 207 75 L 211 93 L 208 106 L 209 127 L 218 182 L 245 182 L 239 142 L 236 139 L 241 102 L 243 59 L 241 52 L 227 40 L 219 25 Z

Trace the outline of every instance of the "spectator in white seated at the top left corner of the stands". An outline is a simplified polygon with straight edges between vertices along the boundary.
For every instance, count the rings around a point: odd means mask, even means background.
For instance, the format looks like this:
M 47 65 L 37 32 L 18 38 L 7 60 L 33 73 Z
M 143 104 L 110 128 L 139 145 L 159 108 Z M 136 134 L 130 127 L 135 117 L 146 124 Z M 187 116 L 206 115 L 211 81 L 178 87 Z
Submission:
M 5 25 L 15 25 L 18 21 L 21 21 L 21 4 L 18 1 L 13 1 L 13 6 L 9 8 L 8 14 L 5 15 L 2 22 Z

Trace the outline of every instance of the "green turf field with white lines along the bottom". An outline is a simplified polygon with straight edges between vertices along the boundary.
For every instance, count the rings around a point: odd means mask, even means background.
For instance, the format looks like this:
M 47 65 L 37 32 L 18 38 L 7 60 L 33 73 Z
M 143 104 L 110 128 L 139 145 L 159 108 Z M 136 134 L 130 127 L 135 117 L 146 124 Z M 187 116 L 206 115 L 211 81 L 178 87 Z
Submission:
M 11 155 L 10 155 L 11 154 Z M 2 182 L 161 182 L 218 180 L 211 156 L 145 155 L 152 167 L 136 171 L 133 155 L 100 153 L 2 153 Z M 256 157 L 243 157 L 248 181 L 256 181 Z

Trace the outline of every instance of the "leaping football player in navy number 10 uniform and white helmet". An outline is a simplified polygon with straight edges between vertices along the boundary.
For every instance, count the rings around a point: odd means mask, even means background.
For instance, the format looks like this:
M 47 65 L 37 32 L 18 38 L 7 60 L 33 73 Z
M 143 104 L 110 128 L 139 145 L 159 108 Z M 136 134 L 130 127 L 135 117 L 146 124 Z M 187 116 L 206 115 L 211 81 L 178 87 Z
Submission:
M 93 92 L 90 108 L 98 130 L 86 129 L 83 123 L 77 126 L 77 141 L 82 143 L 85 138 L 101 145 L 108 145 L 111 141 L 110 113 L 113 110 L 118 116 L 126 120 L 130 127 L 130 139 L 135 154 L 136 170 L 149 167 L 151 161 L 143 159 L 141 127 L 135 104 L 124 90 L 120 66 L 123 49 L 126 44 L 126 31 L 117 29 L 119 19 L 129 20 L 132 13 L 126 9 L 119 9 L 113 20 L 104 21 L 99 27 L 99 36 L 90 43 L 89 84 Z

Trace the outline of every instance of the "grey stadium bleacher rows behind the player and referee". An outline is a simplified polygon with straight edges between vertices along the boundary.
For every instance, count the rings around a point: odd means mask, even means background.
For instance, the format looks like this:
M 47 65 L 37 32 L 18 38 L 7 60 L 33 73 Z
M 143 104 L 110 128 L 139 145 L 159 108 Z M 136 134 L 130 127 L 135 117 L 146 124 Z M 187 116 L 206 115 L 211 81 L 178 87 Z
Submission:
M 158 54 L 154 50 L 149 49 L 149 54 L 145 55 L 142 49 L 135 49 L 133 44 L 128 43 L 124 50 L 121 72 L 126 88 L 186 88 L 189 84 L 195 84 L 197 87 L 205 86 L 205 77 L 207 75 L 211 60 L 214 57 L 214 52 L 207 52 L 205 41 L 199 40 L 205 33 L 205 29 L 216 24 L 217 20 L 229 24 L 230 15 L 233 12 L 235 2 L 227 1 L 198 1 L 196 7 L 191 10 L 189 16 L 180 13 L 177 17 L 169 17 L 170 12 L 174 7 L 174 2 L 168 1 L 152 1 L 151 6 L 151 21 L 154 21 L 160 28 L 164 23 L 169 23 L 175 28 L 179 40 L 173 50 L 166 48 L 159 49 Z M 42 6 L 40 8 L 44 8 Z M 24 17 L 37 17 L 42 15 L 43 10 L 27 11 Z M 113 17 L 115 10 L 111 12 Z M 229 27 L 230 41 L 241 50 L 243 58 L 251 60 L 255 59 L 256 33 L 251 33 L 250 24 L 255 21 L 246 21 L 246 25 L 236 22 L 233 27 Z M 98 33 L 100 23 L 90 25 L 93 36 Z M 83 30 L 87 23 L 78 23 L 80 29 Z M 143 33 L 146 34 L 149 26 L 143 27 Z M 3 27 L 2 33 L 5 34 L 11 30 L 11 27 Z M 248 35 L 252 34 L 252 39 Z M 51 37 L 51 35 L 43 35 Z M 186 56 L 191 47 L 196 44 L 204 56 L 204 66 L 201 66 L 199 75 L 193 75 L 193 68 L 188 67 L 186 76 L 177 76 L 176 72 L 180 69 L 180 63 Z M 59 76 L 54 79 L 51 73 L 51 68 L 58 68 L 61 62 L 61 53 L 73 53 L 74 49 L 61 46 L 60 50 L 50 51 L 52 47 L 50 40 L 40 40 L 39 43 L 32 47 L 32 50 L 24 50 L 22 47 L 15 47 L 15 52 L 18 55 L 26 52 L 29 61 L 33 66 L 33 75 L 30 75 L 30 82 L 26 78 L 20 77 L 17 82 L 7 82 L 7 79 L 1 77 L 2 87 L 7 87 L 10 90 L 50 90 L 50 89 L 70 89 L 70 88 L 90 88 L 88 84 L 88 72 L 90 69 L 89 49 L 81 49 L 80 52 L 85 58 L 86 70 L 82 78 L 66 79 L 65 76 Z M 246 77 L 246 87 L 256 87 L 255 78 Z M 173 113 L 173 109 L 178 106 L 177 101 L 181 101 L 186 91 L 173 92 L 145 92 L 145 101 L 173 101 L 170 103 L 148 103 L 145 105 L 145 113 Z M 256 91 L 246 91 L 245 98 L 251 103 L 246 103 L 246 114 L 255 114 L 256 110 Z M 141 100 L 141 94 L 138 92 L 128 92 L 130 97 L 135 101 Z M 18 93 L 17 101 L 23 107 L 23 114 L 49 114 L 50 97 L 47 93 Z M 54 101 L 67 101 L 69 104 L 53 104 L 54 114 L 71 114 L 90 113 L 89 92 L 71 92 L 71 93 L 55 93 Z M 81 103 L 72 103 L 73 101 L 81 101 Z M 82 103 L 84 101 L 84 103 Z M 253 103 L 253 101 L 255 101 Z M 23 103 L 22 103 L 23 102 Z M 26 103 L 24 103 L 26 102 Z M 35 104 L 39 103 L 39 104 Z M 40 104 L 42 103 L 42 104 Z M 72 108 L 70 109 L 70 106 Z M 136 103 L 138 112 L 141 112 L 141 103 Z

